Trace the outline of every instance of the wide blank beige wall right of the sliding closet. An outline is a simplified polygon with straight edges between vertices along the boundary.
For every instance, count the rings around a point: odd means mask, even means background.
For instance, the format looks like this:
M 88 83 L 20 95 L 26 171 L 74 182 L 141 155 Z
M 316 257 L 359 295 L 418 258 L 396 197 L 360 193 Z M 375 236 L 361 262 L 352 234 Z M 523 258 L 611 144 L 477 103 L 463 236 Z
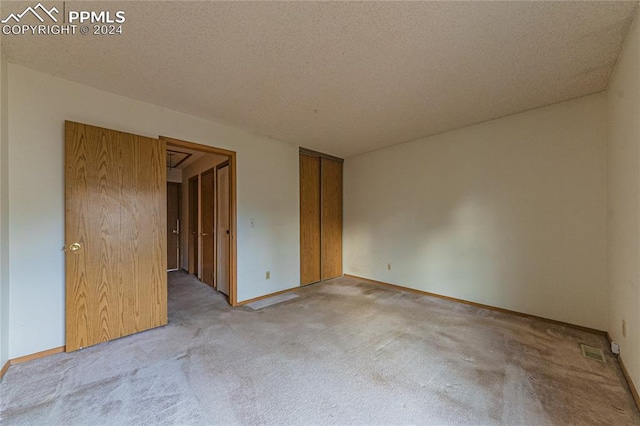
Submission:
M 604 94 L 348 158 L 344 199 L 347 274 L 607 326 Z

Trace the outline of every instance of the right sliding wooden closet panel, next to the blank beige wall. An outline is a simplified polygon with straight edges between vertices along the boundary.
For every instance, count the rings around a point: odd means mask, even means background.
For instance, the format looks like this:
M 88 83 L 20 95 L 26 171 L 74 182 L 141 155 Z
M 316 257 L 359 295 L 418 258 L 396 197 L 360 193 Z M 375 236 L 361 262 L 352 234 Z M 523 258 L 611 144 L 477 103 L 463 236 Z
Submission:
M 342 275 L 342 163 L 320 159 L 322 280 Z

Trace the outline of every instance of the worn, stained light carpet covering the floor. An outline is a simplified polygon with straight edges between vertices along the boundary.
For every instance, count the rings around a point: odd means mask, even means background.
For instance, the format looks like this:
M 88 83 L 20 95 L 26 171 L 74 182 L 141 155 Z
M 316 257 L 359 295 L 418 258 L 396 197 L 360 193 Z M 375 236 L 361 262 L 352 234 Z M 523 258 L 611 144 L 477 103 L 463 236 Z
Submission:
M 185 273 L 166 327 L 12 366 L 0 423 L 640 424 L 603 336 L 349 278 L 231 308 Z

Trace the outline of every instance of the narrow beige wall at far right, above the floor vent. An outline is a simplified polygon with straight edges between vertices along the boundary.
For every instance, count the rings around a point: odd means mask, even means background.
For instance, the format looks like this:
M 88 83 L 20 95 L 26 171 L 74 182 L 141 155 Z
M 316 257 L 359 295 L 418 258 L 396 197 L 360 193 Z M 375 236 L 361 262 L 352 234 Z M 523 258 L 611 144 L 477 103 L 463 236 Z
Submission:
M 627 36 L 608 89 L 609 334 L 640 389 L 640 24 Z M 622 334 L 622 321 L 627 324 Z

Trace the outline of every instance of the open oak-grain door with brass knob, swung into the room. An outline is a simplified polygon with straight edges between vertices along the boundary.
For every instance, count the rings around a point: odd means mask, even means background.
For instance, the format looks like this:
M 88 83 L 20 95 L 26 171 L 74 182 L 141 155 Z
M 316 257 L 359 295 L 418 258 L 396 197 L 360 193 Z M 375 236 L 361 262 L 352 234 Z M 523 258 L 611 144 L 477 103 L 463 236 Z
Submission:
M 167 323 L 165 151 L 65 123 L 67 351 Z

